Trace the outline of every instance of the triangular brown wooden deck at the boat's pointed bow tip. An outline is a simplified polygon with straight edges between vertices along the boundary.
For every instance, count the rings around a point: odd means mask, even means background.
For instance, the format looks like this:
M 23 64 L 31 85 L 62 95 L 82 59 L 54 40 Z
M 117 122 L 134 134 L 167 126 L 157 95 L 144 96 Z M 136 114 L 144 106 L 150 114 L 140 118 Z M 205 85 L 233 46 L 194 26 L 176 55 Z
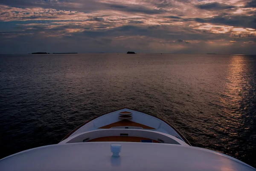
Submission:
M 121 121 L 118 121 L 118 122 L 114 122 L 112 124 L 109 124 L 109 125 L 105 125 L 103 127 L 100 127 L 102 129 L 110 129 L 112 127 L 123 127 L 123 126 L 127 126 L 127 127 L 141 127 L 143 129 L 155 129 L 155 128 L 152 128 L 152 127 L 149 127 L 147 125 L 143 125 L 143 124 L 139 124 L 137 122 L 132 122 L 132 121 L 129 121 L 129 120 L 121 120 Z

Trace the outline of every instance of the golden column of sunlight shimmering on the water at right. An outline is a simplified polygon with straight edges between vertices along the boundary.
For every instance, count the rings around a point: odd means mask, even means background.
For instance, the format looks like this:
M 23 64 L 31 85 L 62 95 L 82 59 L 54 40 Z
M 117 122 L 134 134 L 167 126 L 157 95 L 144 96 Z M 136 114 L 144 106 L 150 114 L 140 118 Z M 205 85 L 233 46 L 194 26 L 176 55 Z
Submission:
M 249 73 L 246 56 L 233 55 L 230 58 L 224 91 L 219 97 L 223 108 L 218 119 L 219 126 L 216 128 L 222 134 L 219 138 L 226 143 L 224 146 L 227 149 L 235 142 L 237 144 L 243 131 L 248 129 L 245 123 L 248 107 L 246 98 L 252 87 L 247 76 Z M 233 155 L 238 154 L 234 151 Z

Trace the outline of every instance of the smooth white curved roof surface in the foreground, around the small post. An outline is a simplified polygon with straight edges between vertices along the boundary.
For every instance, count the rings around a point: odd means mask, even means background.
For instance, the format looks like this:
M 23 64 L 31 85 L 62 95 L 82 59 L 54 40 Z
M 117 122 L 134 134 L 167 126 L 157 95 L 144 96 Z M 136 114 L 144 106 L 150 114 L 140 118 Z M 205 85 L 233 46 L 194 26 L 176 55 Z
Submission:
M 111 144 L 122 144 L 119 158 Z M 256 171 L 215 151 L 183 145 L 86 142 L 49 145 L 0 160 L 1 171 Z

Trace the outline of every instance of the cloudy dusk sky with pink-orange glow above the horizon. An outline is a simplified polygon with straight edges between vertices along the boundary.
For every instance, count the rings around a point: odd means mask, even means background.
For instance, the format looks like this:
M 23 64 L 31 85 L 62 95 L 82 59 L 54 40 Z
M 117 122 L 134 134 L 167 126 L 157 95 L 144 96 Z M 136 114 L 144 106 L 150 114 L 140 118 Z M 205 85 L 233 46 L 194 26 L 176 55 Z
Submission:
M 0 54 L 256 54 L 256 0 L 0 0 Z

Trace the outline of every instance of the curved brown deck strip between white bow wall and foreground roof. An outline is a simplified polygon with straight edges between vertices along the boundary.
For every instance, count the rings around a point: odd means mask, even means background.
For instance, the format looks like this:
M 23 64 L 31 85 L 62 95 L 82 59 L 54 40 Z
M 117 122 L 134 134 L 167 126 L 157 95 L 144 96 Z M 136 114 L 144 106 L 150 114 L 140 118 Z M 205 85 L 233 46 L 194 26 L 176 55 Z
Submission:
M 141 142 L 141 140 L 152 140 L 148 138 L 142 138 L 137 136 L 105 136 L 95 139 L 91 139 L 87 142 Z M 154 143 L 159 143 L 156 140 L 152 140 Z

